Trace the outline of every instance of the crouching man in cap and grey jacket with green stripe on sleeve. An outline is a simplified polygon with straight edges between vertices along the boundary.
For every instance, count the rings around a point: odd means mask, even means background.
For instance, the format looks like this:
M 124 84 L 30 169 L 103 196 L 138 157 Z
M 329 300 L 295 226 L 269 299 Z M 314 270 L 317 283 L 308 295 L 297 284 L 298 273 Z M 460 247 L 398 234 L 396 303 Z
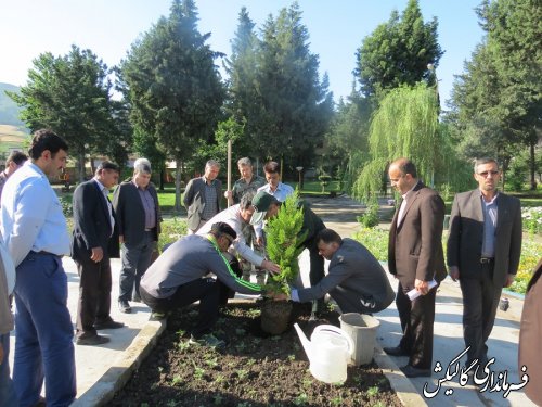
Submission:
M 205 237 L 190 234 L 171 244 L 141 279 L 141 298 L 155 314 L 199 301 L 199 320 L 192 331 L 191 343 L 225 345 L 211 333 L 224 289 L 243 294 L 262 293 L 260 285 L 238 278 L 230 266 L 227 251 L 236 237 L 230 225 L 214 224 Z M 209 272 L 217 279 L 207 277 Z

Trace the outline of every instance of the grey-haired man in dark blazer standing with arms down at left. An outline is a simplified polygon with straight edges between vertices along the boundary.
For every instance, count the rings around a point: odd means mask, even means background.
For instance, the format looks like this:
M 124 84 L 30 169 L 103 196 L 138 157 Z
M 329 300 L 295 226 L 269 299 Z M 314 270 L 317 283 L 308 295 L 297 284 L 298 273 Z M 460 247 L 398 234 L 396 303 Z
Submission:
M 118 307 L 128 314 L 132 310 L 128 301 L 141 302 L 139 283 L 152 263 L 160 234 L 162 214 L 158 194 L 151 182 L 149 160 L 136 160 L 133 177 L 121 182 L 113 193 L 113 207 L 122 243 Z

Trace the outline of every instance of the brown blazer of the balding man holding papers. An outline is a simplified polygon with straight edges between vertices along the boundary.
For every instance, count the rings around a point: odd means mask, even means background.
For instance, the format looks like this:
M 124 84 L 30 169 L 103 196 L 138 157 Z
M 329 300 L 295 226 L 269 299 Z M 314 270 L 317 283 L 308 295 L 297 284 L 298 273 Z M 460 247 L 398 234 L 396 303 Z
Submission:
M 447 276 L 442 250 L 444 202 L 437 192 L 418 182 L 397 226 L 396 211 L 389 233 L 388 267 L 403 288 L 414 280 L 437 282 Z

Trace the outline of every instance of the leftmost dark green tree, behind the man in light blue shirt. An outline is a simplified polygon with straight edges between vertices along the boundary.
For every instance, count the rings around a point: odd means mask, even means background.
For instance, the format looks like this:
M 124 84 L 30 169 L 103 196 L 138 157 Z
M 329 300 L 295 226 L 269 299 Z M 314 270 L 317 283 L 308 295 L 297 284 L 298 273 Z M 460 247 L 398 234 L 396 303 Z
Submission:
M 107 74 L 107 65 L 92 51 L 72 46 L 63 56 L 38 55 L 21 94 L 9 93 L 23 107 L 22 118 L 31 130 L 49 127 L 67 141 L 81 177 L 85 154 L 116 151 L 124 140 Z

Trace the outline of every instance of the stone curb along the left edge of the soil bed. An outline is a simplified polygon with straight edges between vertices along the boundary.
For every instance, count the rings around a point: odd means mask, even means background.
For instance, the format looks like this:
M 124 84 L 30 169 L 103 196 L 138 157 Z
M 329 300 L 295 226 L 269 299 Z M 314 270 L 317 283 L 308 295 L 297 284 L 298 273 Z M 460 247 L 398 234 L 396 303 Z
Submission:
M 113 366 L 72 406 L 104 406 L 111 402 L 115 393 L 125 386 L 133 372 L 141 366 L 141 363 L 156 346 L 158 338 L 166 329 L 166 321 L 167 319 L 150 320 Z

